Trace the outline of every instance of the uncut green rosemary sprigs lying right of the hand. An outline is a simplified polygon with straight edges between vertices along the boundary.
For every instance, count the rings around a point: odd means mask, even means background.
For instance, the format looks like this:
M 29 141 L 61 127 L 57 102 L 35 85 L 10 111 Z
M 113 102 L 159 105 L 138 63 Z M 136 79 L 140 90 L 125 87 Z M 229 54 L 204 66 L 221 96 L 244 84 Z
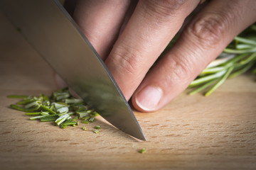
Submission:
M 228 78 L 237 77 L 247 72 L 256 63 L 256 25 L 250 26 L 233 42 L 225 48 L 223 53 L 198 77 L 191 82 L 189 88 L 194 88 L 189 94 L 196 94 L 206 90 L 205 96 L 209 96 Z M 256 74 L 256 69 L 252 70 Z

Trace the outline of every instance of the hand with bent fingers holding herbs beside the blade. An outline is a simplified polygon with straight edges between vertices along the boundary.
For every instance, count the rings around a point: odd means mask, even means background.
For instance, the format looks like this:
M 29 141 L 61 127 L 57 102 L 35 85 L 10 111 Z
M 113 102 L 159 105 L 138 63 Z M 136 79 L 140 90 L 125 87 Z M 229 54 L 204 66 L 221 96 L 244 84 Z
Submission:
M 150 69 L 198 4 L 199 0 L 79 1 L 74 18 L 125 98 L 132 96 L 138 111 L 151 112 L 178 96 L 235 35 L 256 21 L 254 0 L 208 1 Z

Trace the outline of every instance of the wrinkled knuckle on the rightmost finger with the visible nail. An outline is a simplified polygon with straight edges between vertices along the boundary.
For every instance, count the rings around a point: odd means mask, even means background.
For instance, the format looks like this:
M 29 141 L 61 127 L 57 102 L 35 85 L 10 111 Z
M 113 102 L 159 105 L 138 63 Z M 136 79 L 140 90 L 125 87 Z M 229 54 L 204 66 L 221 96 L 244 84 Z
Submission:
M 188 26 L 188 33 L 196 37 L 201 45 L 215 45 L 220 42 L 227 29 L 227 20 L 220 14 L 210 14 L 198 18 L 191 26 Z M 228 22 L 229 23 L 229 22 Z

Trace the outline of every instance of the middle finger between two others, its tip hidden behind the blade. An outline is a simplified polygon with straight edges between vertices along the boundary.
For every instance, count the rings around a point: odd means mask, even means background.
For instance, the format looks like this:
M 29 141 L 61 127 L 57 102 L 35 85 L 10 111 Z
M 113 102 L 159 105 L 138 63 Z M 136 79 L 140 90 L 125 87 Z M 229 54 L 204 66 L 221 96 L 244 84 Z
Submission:
M 194 1 L 139 1 L 105 60 L 127 100 L 194 8 Z

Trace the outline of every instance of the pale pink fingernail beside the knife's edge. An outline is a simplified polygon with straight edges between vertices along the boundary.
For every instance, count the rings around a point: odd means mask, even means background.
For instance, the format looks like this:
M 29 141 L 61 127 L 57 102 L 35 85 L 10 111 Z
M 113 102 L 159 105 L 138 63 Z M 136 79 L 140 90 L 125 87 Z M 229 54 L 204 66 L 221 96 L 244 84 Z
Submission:
M 146 86 L 135 96 L 135 102 L 144 111 L 155 111 L 163 91 L 155 86 Z

